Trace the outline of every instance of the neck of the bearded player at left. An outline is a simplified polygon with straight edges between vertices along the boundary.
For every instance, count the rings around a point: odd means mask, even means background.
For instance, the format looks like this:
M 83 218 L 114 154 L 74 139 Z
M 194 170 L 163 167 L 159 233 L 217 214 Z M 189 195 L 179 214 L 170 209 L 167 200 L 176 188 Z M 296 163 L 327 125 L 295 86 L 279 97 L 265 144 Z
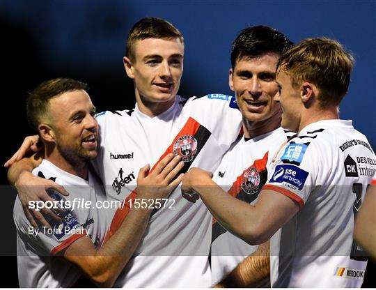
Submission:
M 88 163 L 83 160 L 81 162 L 67 160 L 56 148 L 49 150 L 47 146 L 45 146 L 45 159 L 69 174 L 79 176 L 86 180 L 88 179 Z

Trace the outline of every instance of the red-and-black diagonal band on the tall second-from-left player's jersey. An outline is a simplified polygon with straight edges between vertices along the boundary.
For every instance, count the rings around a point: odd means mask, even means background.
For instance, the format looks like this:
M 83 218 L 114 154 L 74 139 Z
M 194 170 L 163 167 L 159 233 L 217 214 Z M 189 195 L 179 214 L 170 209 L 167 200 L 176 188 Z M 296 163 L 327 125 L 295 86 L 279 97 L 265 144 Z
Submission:
M 175 138 L 173 139 L 173 142 L 171 142 L 171 144 L 166 149 L 166 151 L 164 151 L 164 153 L 159 158 L 159 160 L 155 163 L 152 169 L 150 169 L 149 174 L 155 169 L 159 161 L 161 161 L 164 157 L 166 157 L 167 154 L 174 153 L 174 146 L 176 148 L 177 142 L 180 139 L 184 139 L 184 137 L 186 136 L 190 137 L 191 139 L 194 138 L 196 140 L 195 153 L 191 155 L 191 158 L 189 158 L 187 162 L 185 162 L 185 165 L 182 168 L 182 170 L 179 172 L 179 174 L 187 172 L 192 162 L 194 162 L 198 153 L 200 153 L 203 146 L 205 146 L 207 139 L 209 139 L 210 135 L 212 135 L 212 133 L 209 130 L 207 130 L 207 128 L 205 128 L 203 125 L 198 123 L 198 121 L 196 121 L 192 117 L 189 117 L 187 123 L 185 123 L 182 130 L 180 130 L 178 135 L 175 136 Z M 179 174 L 177 174 L 177 176 L 179 176 Z M 107 235 L 104 241 L 107 241 L 107 239 L 110 236 L 112 236 L 115 233 L 115 231 L 120 227 L 123 220 L 125 219 L 125 217 L 130 211 L 130 200 L 135 199 L 136 197 L 137 197 L 136 190 L 133 190 L 133 192 L 131 192 L 131 194 L 127 197 L 127 199 L 125 199 L 125 204 L 123 204 L 123 207 L 118 208 L 115 215 L 113 216 L 111 226 L 109 228 L 109 231 L 107 232 Z M 156 211 L 153 211 L 152 214 L 155 212 Z

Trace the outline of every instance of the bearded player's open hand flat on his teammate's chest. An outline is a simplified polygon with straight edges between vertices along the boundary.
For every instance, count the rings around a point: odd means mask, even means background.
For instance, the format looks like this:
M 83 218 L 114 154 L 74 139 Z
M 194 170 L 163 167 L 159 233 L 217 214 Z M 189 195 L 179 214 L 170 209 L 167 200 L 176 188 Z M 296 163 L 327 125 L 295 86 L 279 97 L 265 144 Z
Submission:
M 182 181 L 184 174 L 178 173 L 184 167 L 182 158 L 169 153 L 149 174 L 150 165 L 145 165 L 137 176 L 137 194 L 139 198 L 163 199 L 166 198 Z M 178 176 L 177 176 L 178 175 Z

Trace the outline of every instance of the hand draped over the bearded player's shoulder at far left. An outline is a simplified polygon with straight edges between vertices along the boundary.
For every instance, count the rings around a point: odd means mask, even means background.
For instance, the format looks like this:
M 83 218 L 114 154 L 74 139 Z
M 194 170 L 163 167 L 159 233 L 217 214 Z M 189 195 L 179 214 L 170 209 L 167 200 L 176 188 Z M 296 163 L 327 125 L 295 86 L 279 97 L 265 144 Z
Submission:
M 61 218 L 58 217 L 58 214 L 62 213 L 63 210 L 54 209 L 54 211 L 56 211 L 56 213 L 54 213 L 52 209 L 43 207 L 40 211 L 36 211 L 36 208 L 29 208 L 29 201 L 53 201 L 46 192 L 49 188 L 53 188 L 61 194 L 68 196 L 69 193 L 63 186 L 25 171 L 20 174 L 17 181 L 15 181 L 15 188 L 17 189 L 24 213 L 33 227 L 51 228 L 56 222 L 61 222 Z

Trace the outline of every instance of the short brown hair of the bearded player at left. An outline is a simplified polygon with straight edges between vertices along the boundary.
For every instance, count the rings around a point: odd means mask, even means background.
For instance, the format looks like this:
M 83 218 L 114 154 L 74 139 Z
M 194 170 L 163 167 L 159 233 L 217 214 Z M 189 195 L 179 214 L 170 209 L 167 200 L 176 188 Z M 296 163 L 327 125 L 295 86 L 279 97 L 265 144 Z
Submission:
M 31 127 L 38 132 L 38 125 L 47 116 L 49 100 L 67 91 L 86 90 L 88 85 L 75 79 L 50 79 L 39 84 L 29 93 L 26 100 L 26 114 Z

